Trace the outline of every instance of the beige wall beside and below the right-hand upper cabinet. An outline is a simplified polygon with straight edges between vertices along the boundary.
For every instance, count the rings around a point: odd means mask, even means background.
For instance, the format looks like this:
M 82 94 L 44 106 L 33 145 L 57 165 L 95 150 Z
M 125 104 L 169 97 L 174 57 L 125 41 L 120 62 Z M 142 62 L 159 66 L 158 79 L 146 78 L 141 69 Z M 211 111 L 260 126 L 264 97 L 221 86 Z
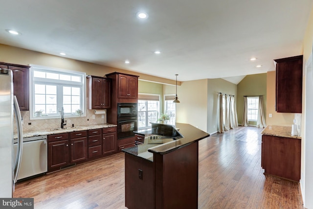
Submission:
M 293 113 L 277 113 L 275 110 L 276 104 L 276 71 L 269 71 L 267 73 L 267 125 L 283 125 L 291 126 L 293 124 Z M 268 114 L 272 114 L 269 117 Z

